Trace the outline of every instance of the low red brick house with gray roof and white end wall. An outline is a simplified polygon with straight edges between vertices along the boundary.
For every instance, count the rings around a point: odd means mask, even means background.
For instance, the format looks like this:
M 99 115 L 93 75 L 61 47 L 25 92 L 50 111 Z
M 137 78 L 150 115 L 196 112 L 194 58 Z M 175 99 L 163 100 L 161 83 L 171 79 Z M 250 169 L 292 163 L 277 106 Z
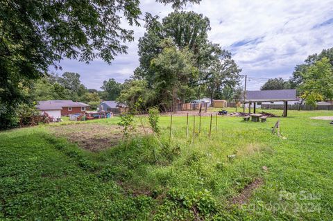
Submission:
M 73 100 L 42 100 L 38 102 L 36 107 L 41 113 L 49 114 L 53 118 L 78 114 L 89 109 L 89 105 Z

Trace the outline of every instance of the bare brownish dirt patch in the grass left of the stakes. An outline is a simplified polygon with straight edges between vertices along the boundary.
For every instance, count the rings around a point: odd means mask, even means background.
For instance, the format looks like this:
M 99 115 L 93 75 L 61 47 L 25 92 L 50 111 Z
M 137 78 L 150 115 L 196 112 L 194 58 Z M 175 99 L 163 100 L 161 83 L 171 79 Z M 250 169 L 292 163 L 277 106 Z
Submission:
M 78 143 L 80 147 L 92 152 L 98 152 L 117 145 L 123 136 L 121 127 L 118 125 L 99 123 L 60 125 L 49 127 L 49 130 L 56 136 L 65 136 L 69 141 Z M 135 130 L 133 133 L 144 134 L 140 129 Z

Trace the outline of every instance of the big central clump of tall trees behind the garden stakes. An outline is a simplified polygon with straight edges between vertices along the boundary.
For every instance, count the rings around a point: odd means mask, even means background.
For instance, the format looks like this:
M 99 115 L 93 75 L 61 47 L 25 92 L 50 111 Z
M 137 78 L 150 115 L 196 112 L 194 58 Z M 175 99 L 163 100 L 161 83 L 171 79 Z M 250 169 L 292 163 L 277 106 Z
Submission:
M 234 87 L 239 83 L 241 69 L 231 59 L 231 53 L 207 39 L 207 32 L 210 30 L 210 20 L 207 17 L 195 12 L 175 11 L 164 17 L 162 22 L 158 16 L 148 13 L 145 19 L 146 33 L 139 39 L 140 64 L 134 76 L 146 80 L 147 89 L 155 92 L 153 105 L 162 104 L 167 107 L 165 109 L 176 109 L 176 105 L 171 108 L 176 103 L 176 96 L 182 102 L 207 95 L 218 98 L 224 87 Z M 167 55 L 166 50 L 172 45 L 181 53 L 191 54 L 185 57 L 191 57 L 188 63 L 196 68 L 195 78 L 183 78 L 186 71 L 180 69 L 184 66 L 181 62 L 168 62 L 171 55 Z M 166 62 L 160 62 L 157 66 L 157 61 L 162 59 Z M 172 61 L 181 61 L 177 58 L 177 53 L 173 53 Z M 171 73 L 167 72 L 170 67 L 175 69 L 173 73 L 176 77 L 170 77 Z M 170 79 L 177 78 L 182 80 L 178 80 L 175 85 Z

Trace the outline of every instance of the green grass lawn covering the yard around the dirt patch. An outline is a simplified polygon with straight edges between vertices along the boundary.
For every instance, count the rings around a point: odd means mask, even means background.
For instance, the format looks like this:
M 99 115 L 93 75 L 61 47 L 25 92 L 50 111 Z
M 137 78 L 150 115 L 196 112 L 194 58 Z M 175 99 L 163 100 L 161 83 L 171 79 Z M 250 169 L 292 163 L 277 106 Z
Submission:
M 311 116 L 333 112 L 289 111 L 282 137 L 271 134 L 279 118 L 218 116 L 215 128 L 214 116 L 208 136 L 210 117 L 199 133 L 190 116 L 186 136 L 187 118 L 173 116 L 171 141 L 161 116 L 158 141 L 101 152 L 50 132 L 69 121 L 0 132 L 0 220 L 332 220 L 333 125 Z

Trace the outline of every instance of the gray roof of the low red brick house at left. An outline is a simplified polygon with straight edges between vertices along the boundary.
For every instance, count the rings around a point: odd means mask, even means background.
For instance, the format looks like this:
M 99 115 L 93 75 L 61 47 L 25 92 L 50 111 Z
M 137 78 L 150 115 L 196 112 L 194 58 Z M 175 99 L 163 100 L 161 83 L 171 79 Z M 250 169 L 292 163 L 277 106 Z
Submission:
M 89 105 L 73 100 L 41 100 L 36 107 L 41 110 L 51 110 L 62 109 L 62 107 L 89 107 Z

